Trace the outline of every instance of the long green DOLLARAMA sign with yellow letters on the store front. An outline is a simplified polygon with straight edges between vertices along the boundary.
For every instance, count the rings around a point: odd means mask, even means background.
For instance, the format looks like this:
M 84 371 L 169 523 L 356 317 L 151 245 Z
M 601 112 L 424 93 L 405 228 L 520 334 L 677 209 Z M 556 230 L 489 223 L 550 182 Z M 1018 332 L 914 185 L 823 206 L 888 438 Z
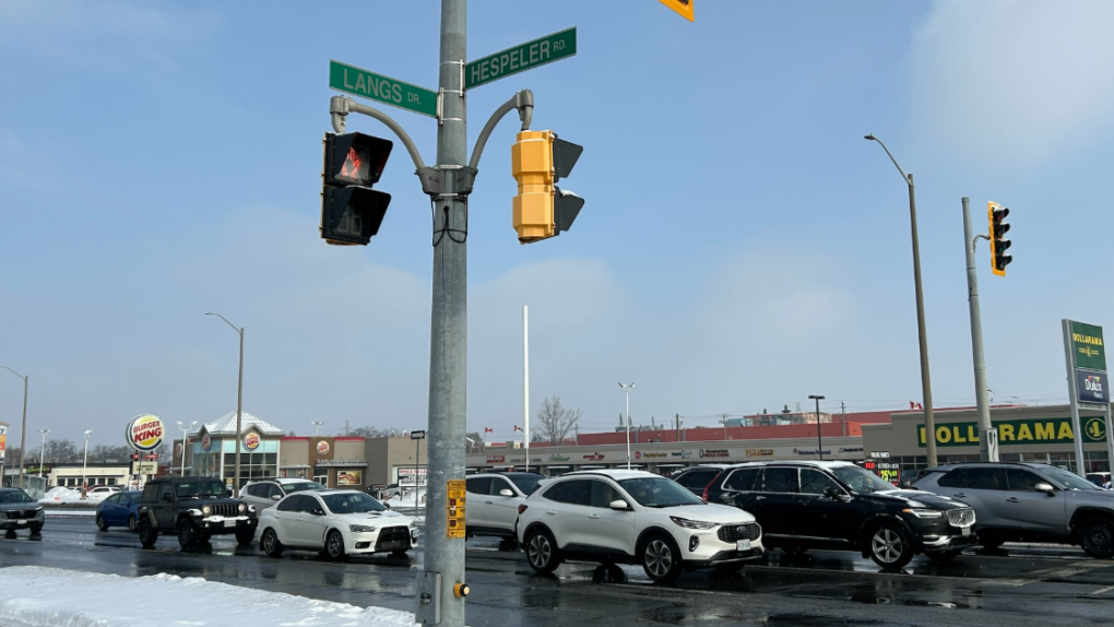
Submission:
M 1075 434 L 1071 418 L 1045 418 L 995 421 L 998 444 L 1071 444 Z M 1083 419 L 1085 442 L 1106 441 L 1106 421 L 1101 417 Z M 925 425 L 917 425 L 917 445 L 926 447 Z M 937 447 L 978 445 L 978 422 L 949 422 L 936 425 Z

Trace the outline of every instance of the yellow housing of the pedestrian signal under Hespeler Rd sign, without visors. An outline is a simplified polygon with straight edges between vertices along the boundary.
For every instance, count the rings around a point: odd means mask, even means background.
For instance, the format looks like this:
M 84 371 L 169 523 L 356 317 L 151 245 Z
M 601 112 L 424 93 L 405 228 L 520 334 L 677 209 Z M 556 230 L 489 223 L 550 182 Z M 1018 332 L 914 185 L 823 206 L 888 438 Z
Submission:
M 510 173 L 518 180 L 514 224 L 522 244 L 555 235 L 554 134 L 524 130 L 510 148 Z

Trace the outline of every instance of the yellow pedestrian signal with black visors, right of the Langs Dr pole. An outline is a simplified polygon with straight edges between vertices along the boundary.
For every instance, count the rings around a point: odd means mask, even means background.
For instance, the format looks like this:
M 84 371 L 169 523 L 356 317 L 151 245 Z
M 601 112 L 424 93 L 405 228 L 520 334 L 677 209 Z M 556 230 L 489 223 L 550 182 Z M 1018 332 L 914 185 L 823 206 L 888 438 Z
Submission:
M 524 130 L 510 149 L 510 169 L 518 182 L 514 226 L 521 244 L 568 231 L 584 198 L 557 187 L 573 172 L 583 146 L 558 139 L 551 130 Z

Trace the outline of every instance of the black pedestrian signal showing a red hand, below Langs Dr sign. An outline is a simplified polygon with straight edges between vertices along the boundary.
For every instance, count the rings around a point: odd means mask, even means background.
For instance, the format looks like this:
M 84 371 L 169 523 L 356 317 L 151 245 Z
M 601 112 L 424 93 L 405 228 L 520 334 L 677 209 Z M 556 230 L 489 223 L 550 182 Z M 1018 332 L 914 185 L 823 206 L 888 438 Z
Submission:
M 390 194 L 371 187 L 379 183 L 394 143 L 362 133 L 326 133 L 324 145 L 321 237 L 329 244 L 367 246 L 391 204 Z

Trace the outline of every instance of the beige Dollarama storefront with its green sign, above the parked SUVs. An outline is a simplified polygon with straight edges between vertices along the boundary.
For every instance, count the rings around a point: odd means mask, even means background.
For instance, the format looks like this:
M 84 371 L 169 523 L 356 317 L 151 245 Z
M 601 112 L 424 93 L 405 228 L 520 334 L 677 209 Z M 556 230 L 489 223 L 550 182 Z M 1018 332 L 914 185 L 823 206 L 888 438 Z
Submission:
M 979 460 L 978 415 L 974 409 L 934 412 L 937 462 Z M 1102 412 L 1082 412 L 1087 472 L 1110 470 L 1106 421 Z M 1052 463 L 1075 471 L 1074 430 L 1065 405 L 991 408 L 998 428 L 1000 461 Z M 868 458 L 893 464 L 906 478 L 928 466 L 924 412 L 895 412 L 889 424 L 863 424 Z

